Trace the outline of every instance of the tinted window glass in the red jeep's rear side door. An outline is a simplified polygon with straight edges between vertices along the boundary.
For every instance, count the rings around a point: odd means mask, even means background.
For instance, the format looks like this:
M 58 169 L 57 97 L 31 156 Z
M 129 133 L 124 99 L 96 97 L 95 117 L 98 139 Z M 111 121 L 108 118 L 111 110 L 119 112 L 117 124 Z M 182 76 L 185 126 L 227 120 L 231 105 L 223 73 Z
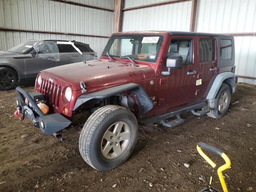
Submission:
M 215 39 L 199 40 L 200 63 L 215 60 Z

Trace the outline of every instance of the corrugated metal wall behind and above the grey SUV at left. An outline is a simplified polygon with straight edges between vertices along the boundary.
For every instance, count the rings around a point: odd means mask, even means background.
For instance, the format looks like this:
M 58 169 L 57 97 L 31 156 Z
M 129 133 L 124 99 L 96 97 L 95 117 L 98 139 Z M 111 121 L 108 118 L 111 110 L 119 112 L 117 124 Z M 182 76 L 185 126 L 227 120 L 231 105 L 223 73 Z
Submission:
M 114 9 L 114 0 L 73 0 Z M 110 36 L 114 12 L 51 0 L 0 0 L 0 27 Z M 108 38 L 0 31 L 0 50 L 29 39 L 76 40 L 102 53 Z

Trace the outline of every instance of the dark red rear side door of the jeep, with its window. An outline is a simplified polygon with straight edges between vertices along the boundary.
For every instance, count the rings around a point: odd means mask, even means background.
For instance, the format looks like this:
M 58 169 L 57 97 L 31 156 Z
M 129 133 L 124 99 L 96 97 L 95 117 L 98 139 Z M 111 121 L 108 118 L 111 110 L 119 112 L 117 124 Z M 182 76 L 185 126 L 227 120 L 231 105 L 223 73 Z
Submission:
M 217 70 L 217 38 L 198 36 L 198 74 L 196 84 L 196 100 L 205 100 L 218 74 Z

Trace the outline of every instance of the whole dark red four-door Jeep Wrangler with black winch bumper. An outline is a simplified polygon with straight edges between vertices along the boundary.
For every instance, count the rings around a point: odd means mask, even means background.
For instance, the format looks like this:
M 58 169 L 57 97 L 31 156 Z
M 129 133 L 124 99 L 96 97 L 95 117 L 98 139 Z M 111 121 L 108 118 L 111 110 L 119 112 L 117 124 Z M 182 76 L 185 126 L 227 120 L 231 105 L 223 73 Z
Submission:
M 172 127 L 190 111 L 224 116 L 236 90 L 234 71 L 233 36 L 120 32 L 100 60 L 43 70 L 34 93 L 16 88 L 16 116 L 60 138 L 64 128 L 85 122 L 82 157 L 97 170 L 111 170 L 132 153 L 138 124 Z

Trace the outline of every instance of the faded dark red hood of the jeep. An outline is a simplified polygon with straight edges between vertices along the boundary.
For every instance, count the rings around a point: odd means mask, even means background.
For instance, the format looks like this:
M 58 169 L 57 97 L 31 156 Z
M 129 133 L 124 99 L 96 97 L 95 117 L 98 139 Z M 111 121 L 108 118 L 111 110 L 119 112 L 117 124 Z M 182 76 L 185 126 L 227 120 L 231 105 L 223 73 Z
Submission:
M 143 65 L 132 67 L 121 62 L 109 62 L 108 60 L 79 62 L 42 71 L 42 74 L 70 84 L 73 90 L 81 89 L 81 81 L 86 84 L 86 88 L 93 88 L 143 80 L 145 73 L 147 77 L 154 76 L 154 70 L 150 67 Z

